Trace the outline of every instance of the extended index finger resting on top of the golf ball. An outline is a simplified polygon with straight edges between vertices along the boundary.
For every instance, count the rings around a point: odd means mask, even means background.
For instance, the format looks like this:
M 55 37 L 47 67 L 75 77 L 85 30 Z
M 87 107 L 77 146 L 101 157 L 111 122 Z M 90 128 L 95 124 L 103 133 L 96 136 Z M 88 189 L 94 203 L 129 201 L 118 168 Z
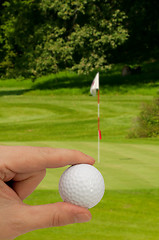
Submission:
M 77 150 L 47 147 L 0 147 L 5 166 L 15 173 L 40 171 L 79 163 L 94 164 L 95 160 Z

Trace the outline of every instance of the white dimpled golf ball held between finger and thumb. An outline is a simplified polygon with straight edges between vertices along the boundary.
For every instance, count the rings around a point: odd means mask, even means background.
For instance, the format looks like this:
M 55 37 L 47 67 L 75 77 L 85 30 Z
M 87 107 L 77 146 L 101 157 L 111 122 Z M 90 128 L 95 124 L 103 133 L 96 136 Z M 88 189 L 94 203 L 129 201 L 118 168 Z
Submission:
M 92 208 L 102 199 L 105 184 L 102 174 L 89 164 L 69 167 L 61 175 L 59 193 L 64 202 Z

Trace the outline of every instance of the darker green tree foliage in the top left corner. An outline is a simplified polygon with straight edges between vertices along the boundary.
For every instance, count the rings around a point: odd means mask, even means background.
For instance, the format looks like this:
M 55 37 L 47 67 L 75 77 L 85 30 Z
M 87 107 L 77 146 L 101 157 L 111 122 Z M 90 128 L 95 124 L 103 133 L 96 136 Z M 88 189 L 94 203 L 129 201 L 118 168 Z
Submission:
M 37 2 L 13 0 L 3 4 L 1 32 L 4 57 L 0 65 L 8 77 L 27 76 L 32 71 L 34 48 L 40 40 L 36 31 L 41 19 Z

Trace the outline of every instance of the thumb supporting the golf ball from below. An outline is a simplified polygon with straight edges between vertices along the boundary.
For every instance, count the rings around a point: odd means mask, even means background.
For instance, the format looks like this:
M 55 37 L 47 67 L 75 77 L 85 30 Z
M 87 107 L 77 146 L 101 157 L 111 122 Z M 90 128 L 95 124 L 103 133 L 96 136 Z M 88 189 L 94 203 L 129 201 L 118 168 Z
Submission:
M 91 213 L 82 207 L 69 203 L 55 203 L 41 206 L 23 206 L 20 212 L 19 235 L 41 228 L 64 226 L 88 222 Z

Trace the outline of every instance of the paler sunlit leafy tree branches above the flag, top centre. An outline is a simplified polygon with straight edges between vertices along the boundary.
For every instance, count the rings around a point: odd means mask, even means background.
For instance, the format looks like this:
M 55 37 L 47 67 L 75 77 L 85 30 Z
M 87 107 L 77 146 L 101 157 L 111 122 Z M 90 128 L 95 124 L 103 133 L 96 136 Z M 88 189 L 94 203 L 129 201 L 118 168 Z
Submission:
M 39 70 L 48 71 L 52 65 L 55 71 L 72 68 L 79 73 L 104 69 L 111 50 L 127 38 L 122 27 L 125 14 L 107 1 L 49 1 L 47 9 L 57 15 L 57 25 L 52 28 L 50 21 Z

